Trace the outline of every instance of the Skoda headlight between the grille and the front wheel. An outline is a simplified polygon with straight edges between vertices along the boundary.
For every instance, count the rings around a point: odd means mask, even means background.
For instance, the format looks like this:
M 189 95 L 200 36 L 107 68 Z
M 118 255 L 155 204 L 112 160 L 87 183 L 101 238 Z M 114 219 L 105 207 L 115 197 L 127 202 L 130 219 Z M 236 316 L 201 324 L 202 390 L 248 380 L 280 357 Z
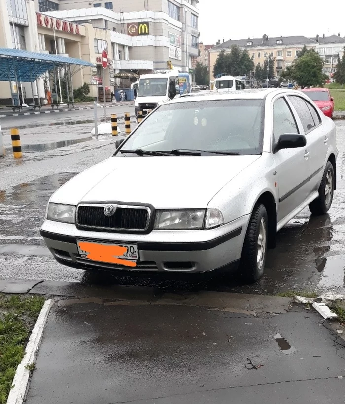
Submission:
M 156 214 L 155 229 L 198 230 L 212 229 L 224 224 L 218 209 L 159 210 Z

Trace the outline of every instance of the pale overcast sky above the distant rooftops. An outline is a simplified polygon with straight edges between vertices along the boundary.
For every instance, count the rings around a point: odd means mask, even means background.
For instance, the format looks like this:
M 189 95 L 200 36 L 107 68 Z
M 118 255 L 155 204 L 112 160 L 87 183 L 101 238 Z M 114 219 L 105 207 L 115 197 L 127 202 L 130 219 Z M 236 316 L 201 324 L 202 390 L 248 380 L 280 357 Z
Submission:
M 237 3 L 237 4 L 236 4 Z M 317 5 L 319 4 L 319 6 Z M 200 0 L 200 41 L 303 35 L 345 36 L 345 2 Z

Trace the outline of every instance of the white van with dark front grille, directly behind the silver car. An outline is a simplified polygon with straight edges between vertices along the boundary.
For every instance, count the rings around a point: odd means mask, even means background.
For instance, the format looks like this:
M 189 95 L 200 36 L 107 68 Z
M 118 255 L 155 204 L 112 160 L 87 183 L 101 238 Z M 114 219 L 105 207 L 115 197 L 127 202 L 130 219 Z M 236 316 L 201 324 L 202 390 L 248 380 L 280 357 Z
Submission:
M 143 74 L 139 79 L 137 98 L 134 102 L 135 114 L 141 111 L 146 115 L 165 102 L 189 94 L 190 75 L 178 70 L 157 70 L 152 74 Z

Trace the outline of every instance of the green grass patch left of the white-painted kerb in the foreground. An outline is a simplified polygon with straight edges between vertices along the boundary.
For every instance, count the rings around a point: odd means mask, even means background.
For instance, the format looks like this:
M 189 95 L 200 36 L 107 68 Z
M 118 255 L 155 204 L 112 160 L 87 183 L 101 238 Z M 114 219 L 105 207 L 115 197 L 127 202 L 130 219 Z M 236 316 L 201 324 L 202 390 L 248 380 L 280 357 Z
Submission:
M 0 404 L 5 404 L 32 325 L 43 306 L 41 296 L 0 294 Z M 35 369 L 35 364 L 30 364 Z

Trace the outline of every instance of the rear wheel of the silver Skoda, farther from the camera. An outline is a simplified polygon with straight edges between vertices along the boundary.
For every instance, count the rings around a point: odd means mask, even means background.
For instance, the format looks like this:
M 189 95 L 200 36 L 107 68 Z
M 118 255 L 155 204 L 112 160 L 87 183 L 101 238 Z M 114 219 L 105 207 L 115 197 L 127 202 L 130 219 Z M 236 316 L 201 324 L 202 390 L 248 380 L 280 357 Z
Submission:
M 329 211 L 334 193 L 334 168 L 327 162 L 319 187 L 319 196 L 309 204 L 309 210 L 314 215 L 324 215 Z

